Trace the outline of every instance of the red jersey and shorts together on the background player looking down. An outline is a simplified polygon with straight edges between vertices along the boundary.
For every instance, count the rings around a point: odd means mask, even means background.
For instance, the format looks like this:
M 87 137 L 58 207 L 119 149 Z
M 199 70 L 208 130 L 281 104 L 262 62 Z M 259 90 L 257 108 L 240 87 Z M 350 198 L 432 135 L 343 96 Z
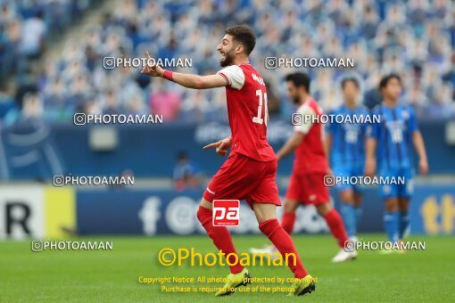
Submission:
M 302 143 L 295 150 L 293 173 L 287 188 L 286 198 L 304 204 L 328 202 L 330 195 L 324 185 L 328 165 L 324 151 L 324 128 L 318 122 L 323 114 L 313 99 L 304 102 L 297 113 L 302 115 L 302 125 L 294 126 L 295 132 L 305 134 Z

